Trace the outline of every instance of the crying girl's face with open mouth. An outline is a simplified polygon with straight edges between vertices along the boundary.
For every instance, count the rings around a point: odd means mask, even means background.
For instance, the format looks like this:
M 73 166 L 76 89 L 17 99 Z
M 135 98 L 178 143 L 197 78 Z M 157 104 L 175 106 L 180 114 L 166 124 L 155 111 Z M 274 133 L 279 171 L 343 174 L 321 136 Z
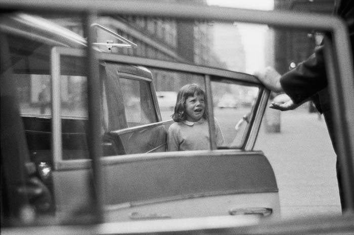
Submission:
M 186 119 L 189 122 L 197 122 L 202 118 L 205 110 L 204 95 L 189 96 L 186 100 Z

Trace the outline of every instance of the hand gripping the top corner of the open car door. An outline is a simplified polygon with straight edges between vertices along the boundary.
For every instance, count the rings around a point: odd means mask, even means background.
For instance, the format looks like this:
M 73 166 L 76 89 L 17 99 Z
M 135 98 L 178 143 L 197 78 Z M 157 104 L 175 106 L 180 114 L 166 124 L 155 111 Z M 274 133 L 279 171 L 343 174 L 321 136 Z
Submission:
M 283 92 L 283 88 L 280 85 L 281 75 L 272 67 L 267 67 L 265 69 L 259 70 L 254 73 L 259 81 L 267 87 L 269 90 L 274 92 Z

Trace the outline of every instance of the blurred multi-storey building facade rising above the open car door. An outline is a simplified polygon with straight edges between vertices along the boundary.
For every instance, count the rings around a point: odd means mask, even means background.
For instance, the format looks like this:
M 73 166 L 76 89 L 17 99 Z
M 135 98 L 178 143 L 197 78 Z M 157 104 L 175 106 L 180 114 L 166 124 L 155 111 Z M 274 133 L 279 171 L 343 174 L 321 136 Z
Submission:
M 163 2 L 163 1 L 161 1 Z M 206 0 L 166 0 L 168 3 L 207 5 Z M 54 19 L 54 18 L 53 18 Z M 54 19 L 56 23 L 85 37 L 80 19 Z M 177 21 L 172 18 L 146 16 L 101 16 L 98 24 L 137 44 L 137 48 L 112 47 L 111 52 L 153 58 L 161 61 L 182 62 L 226 69 L 227 65 L 214 52 L 213 24 L 197 21 Z M 238 37 L 240 38 L 240 37 Z M 120 43 L 102 30 L 97 30 L 97 42 Z M 235 42 L 241 44 L 240 42 Z M 104 49 L 104 46 L 102 47 Z M 244 51 L 242 51 L 244 53 Z M 244 55 L 235 58 L 244 66 Z M 184 76 L 151 70 L 157 91 L 178 91 L 185 83 Z M 189 76 L 190 77 L 190 76 Z M 191 81 L 191 79 L 189 79 Z M 198 79 L 195 82 L 199 81 Z M 192 79 L 193 82 L 193 79 Z

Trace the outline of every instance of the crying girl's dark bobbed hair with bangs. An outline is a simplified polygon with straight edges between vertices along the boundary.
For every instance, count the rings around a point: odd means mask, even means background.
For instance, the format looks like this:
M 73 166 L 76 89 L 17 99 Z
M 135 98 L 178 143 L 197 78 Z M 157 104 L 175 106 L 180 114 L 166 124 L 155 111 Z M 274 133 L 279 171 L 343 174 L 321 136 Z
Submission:
M 194 96 L 195 93 L 197 93 L 197 95 L 203 95 L 204 102 L 206 104 L 206 97 L 203 88 L 197 84 L 187 84 L 183 86 L 177 94 L 176 105 L 174 106 L 174 113 L 172 114 L 172 119 L 174 122 L 179 123 L 186 120 L 186 100 L 188 97 Z M 207 116 L 208 114 L 205 105 L 203 118 L 207 119 Z

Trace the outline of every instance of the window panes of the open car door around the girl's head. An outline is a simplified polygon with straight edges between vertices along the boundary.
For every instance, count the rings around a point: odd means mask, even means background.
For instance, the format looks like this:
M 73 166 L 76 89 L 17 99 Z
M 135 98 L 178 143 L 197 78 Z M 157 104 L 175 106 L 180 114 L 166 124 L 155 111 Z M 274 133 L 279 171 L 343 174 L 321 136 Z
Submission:
M 157 81 L 156 95 L 162 120 L 171 120 L 178 104 L 178 92 L 187 84 L 197 84 L 211 96 L 213 118 L 224 136 L 224 143 L 219 148 L 242 148 L 251 121 L 256 111 L 256 101 L 261 96 L 256 84 L 239 82 L 241 74 L 235 74 L 233 79 L 220 79 L 211 76 L 210 92 L 206 90 L 205 74 L 183 73 L 173 70 L 158 70 L 150 68 Z M 205 71 L 206 72 L 206 71 Z M 252 77 L 252 76 L 249 76 Z

